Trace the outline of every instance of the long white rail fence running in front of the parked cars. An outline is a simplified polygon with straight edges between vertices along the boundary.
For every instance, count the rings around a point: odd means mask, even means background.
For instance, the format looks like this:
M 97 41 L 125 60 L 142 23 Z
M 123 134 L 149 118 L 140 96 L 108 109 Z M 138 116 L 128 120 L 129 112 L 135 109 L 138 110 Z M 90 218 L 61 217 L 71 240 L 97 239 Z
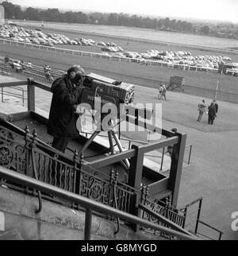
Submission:
M 209 67 L 201 67 L 201 66 L 194 66 L 189 64 L 173 64 L 168 63 L 163 60 L 143 60 L 136 58 L 129 58 L 129 57 L 122 57 L 122 56 L 110 56 L 103 53 L 97 53 L 97 52 L 85 52 L 85 51 L 78 51 L 74 49 L 67 49 L 67 48 L 56 48 L 51 46 L 45 46 L 45 45 L 34 45 L 34 44 L 28 44 L 24 42 L 18 42 L 18 41 L 10 41 L 6 39 L 0 38 L 0 44 L 3 45 L 21 45 L 25 48 L 33 48 L 33 49 L 40 49 L 44 51 L 49 52 L 61 52 L 71 55 L 77 55 L 77 56 L 86 56 L 86 57 L 96 57 L 96 58 L 103 58 L 108 60 L 115 60 L 115 61 L 124 61 L 124 62 L 132 62 L 132 63 L 138 63 L 138 64 L 146 64 L 151 66 L 159 66 L 159 67 L 170 67 L 170 68 L 177 68 L 181 70 L 192 70 L 192 71 L 204 71 L 204 72 L 214 72 L 217 73 L 217 68 L 209 68 Z

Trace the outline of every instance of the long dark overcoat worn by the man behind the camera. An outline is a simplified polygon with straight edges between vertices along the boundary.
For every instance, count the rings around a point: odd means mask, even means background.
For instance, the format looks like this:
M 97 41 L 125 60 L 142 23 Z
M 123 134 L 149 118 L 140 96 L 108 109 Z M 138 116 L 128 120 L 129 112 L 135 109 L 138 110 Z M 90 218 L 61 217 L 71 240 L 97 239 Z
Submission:
M 75 87 L 65 75 L 52 83 L 52 93 L 48 134 L 56 138 L 79 137 L 79 130 L 76 128 L 79 115 L 75 114 L 75 110 L 80 103 L 82 89 Z

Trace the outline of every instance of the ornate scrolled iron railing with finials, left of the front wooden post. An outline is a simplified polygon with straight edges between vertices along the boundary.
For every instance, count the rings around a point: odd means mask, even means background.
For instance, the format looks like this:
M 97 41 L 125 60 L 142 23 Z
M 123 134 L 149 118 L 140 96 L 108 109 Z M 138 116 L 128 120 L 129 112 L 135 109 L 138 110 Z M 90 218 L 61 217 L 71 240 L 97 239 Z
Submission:
M 27 126 L 25 136 L 0 126 L 0 165 L 68 192 L 130 212 L 135 189 L 119 182 L 117 172 L 112 169 L 106 175 L 93 168 L 83 168 L 82 158 L 78 157 L 77 152 L 74 159 L 67 163 L 61 159 L 60 153 L 46 147 L 37 139 L 36 131 L 30 134 Z

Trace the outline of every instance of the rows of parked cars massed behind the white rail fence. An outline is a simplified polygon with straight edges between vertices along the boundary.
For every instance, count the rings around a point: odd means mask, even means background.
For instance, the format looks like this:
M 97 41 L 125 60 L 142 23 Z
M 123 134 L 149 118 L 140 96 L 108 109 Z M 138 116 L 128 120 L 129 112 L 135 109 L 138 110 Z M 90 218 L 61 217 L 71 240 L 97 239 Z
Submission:
M 10 39 L 16 42 L 33 43 L 36 45 L 98 45 L 102 46 L 103 56 L 107 55 L 107 52 L 112 52 L 113 56 L 125 56 L 132 59 L 144 58 L 146 60 L 154 60 L 159 62 L 165 62 L 167 64 L 185 64 L 193 67 L 198 67 L 201 70 L 207 68 L 219 68 L 221 62 L 229 62 L 232 59 L 228 56 L 213 56 L 213 55 L 193 55 L 188 51 L 167 51 L 161 49 L 148 49 L 145 52 L 132 52 L 125 51 L 120 46 L 117 46 L 113 42 L 94 41 L 90 38 L 75 38 L 70 39 L 60 33 L 44 33 L 41 30 L 25 29 L 18 25 L 3 24 L 0 25 L 0 37 Z M 116 54 L 121 52 L 121 54 Z M 107 53 L 107 54 L 106 54 Z M 232 71 L 231 71 L 232 72 Z M 234 72 L 237 74 L 237 71 Z

